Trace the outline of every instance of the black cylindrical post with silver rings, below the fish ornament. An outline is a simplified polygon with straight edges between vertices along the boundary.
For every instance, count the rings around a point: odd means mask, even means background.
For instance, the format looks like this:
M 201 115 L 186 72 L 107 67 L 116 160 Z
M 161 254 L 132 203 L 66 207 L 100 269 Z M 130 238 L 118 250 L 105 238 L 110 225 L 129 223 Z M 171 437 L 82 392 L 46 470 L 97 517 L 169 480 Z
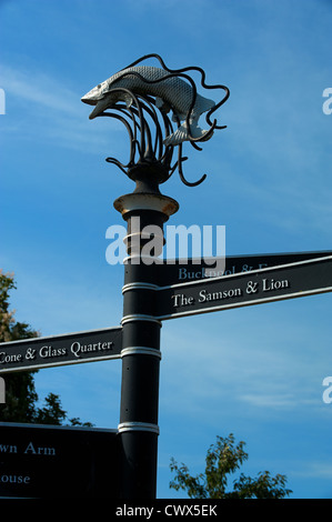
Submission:
M 139 187 L 139 183 L 138 183 Z M 155 499 L 158 460 L 158 406 L 161 323 L 154 318 L 157 264 L 163 244 L 163 223 L 179 205 L 144 184 L 114 202 L 128 223 L 123 292 L 122 383 L 119 433 L 121 436 L 122 499 Z M 147 225 L 159 233 L 157 247 Z M 151 229 L 150 229 L 151 230 Z M 154 245 L 157 238 L 154 237 Z M 152 263 L 151 263 L 152 261 Z

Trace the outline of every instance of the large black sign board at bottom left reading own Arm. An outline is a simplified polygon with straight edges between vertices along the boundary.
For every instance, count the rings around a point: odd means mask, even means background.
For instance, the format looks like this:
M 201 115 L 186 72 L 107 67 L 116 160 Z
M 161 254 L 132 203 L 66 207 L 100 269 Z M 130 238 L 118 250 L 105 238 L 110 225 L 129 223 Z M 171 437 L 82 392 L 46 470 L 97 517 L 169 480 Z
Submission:
M 119 498 L 117 430 L 0 422 L 0 498 Z

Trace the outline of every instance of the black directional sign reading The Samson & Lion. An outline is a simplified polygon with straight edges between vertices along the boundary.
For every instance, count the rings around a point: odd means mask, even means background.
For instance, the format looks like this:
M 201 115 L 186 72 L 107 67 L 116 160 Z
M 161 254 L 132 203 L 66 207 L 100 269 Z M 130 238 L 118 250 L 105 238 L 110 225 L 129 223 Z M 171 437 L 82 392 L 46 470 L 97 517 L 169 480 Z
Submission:
M 332 257 L 158 290 L 158 319 L 213 312 L 332 291 Z

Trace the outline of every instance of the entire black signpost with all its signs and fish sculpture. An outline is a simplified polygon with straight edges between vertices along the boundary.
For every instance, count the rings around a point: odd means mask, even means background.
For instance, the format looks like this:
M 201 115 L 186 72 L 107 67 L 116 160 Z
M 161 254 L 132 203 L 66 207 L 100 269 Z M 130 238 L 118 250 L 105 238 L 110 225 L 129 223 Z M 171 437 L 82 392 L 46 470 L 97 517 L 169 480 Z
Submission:
M 147 58 L 157 58 L 162 69 L 139 67 L 132 71 Z M 201 73 L 202 88 L 224 94 L 205 114 L 208 131 L 192 127 L 200 98 L 189 71 Z M 191 81 L 185 83 L 184 79 Z M 159 185 L 177 169 L 184 184 L 200 184 L 205 174 L 195 182 L 183 175 L 187 158 L 182 142 L 201 150 L 198 141 L 204 142 L 215 129 L 224 128 L 217 124 L 214 114 L 213 122 L 210 117 L 227 101 L 229 89 L 208 86 L 204 79 L 204 71 L 198 67 L 172 71 L 161 57 L 149 54 L 82 98 L 95 106 L 90 118 L 115 118 L 124 123 L 130 138 L 127 165 L 108 158 L 135 182 L 132 193 L 114 201 L 128 228 L 122 325 L 1 343 L 0 372 L 121 358 L 120 423 L 117 431 L 0 423 L 2 496 L 154 499 L 161 321 L 332 291 L 331 251 L 234 255 L 225 258 L 224 263 L 219 260 L 218 269 L 211 265 L 211 259 L 153 263 L 161 254 L 163 223 L 179 209 L 175 200 L 161 194 Z M 167 99 L 161 100 L 165 92 Z M 170 106 L 178 123 L 174 132 L 165 111 Z M 171 167 L 178 145 L 178 160 Z M 152 229 L 158 241 L 153 252 L 145 252 L 148 230 Z

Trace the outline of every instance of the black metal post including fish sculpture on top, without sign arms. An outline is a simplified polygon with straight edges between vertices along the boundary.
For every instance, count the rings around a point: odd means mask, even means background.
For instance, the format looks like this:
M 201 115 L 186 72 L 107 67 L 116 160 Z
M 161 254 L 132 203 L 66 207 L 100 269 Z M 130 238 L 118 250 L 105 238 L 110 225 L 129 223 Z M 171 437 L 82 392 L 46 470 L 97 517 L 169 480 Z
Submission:
M 162 69 L 138 66 L 150 58 L 159 60 Z M 194 114 L 200 112 L 197 103 L 201 98 L 198 98 L 195 82 L 189 71 L 201 74 L 202 88 L 224 91 L 218 103 L 205 99 L 203 112 L 207 112 L 209 130 L 201 133 L 199 127 L 192 126 Z M 168 90 L 162 104 L 158 86 Z M 95 106 L 90 119 L 108 117 L 124 124 L 130 140 L 129 162 L 124 164 L 113 157 L 107 158 L 107 161 L 119 167 L 137 183 L 132 194 L 114 201 L 115 209 L 128 223 L 129 254 L 123 287 L 119 424 L 122 448 L 120 490 L 123 499 L 155 498 L 161 323 L 154 315 L 157 267 L 150 261 L 162 249 L 163 223 L 179 209 L 175 200 L 160 193 L 159 185 L 168 181 L 177 169 L 181 181 L 188 187 L 197 187 L 205 179 L 205 174 L 194 182 L 184 178 L 182 164 L 188 158 L 182 155 L 182 143 L 189 141 L 194 149 L 201 150 L 198 141 L 207 141 L 214 130 L 225 128 L 218 126 L 217 119 L 212 122 L 211 117 L 229 96 L 225 86 L 205 83 L 203 69 L 185 67 L 172 70 L 159 54 L 151 53 L 135 60 L 82 98 L 84 103 Z M 170 108 L 172 119 L 168 116 Z M 178 124 L 177 130 L 173 122 Z M 175 147 L 178 160 L 172 165 Z M 150 230 L 144 230 L 145 227 Z M 160 241 L 154 252 L 147 252 L 144 247 L 151 240 L 151 227 L 159 228 L 154 232 Z

